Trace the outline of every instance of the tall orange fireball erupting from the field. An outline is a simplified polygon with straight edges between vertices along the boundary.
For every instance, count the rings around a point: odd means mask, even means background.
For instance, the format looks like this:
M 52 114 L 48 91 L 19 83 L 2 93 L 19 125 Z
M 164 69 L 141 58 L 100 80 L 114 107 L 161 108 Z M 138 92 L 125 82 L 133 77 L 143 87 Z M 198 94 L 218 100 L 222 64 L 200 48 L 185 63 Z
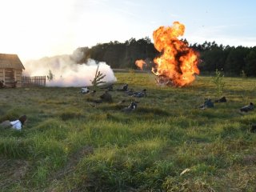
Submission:
M 189 85 L 199 74 L 198 53 L 178 39 L 184 31 L 184 25 L 174 22 L 173 26 L 160 26 L 153 34 L 154 47 L 162 55 L 154 58 L 152 72 L 173 86 Z

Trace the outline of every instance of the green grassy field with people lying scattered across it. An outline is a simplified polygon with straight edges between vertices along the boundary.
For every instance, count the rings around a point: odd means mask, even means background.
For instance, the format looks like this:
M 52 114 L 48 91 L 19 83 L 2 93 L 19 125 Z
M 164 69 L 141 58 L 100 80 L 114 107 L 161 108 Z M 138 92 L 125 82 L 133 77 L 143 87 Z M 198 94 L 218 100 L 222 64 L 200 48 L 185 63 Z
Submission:
M 1 122 L 28 116 L 22 131 L 0 132 L 1 191 L 256 191 L 256 114 L 239 111 L 256 103 L 256 79 L 224 78 L 219 95 L 211 77 L 174 88 L 153 74 L 115 75 L 114 89 L 147 96 L 114 90 L 113 103 L 94 106 L 79 88 L 0 90 Z M 133 99 L 138 108 L 122 112 Z

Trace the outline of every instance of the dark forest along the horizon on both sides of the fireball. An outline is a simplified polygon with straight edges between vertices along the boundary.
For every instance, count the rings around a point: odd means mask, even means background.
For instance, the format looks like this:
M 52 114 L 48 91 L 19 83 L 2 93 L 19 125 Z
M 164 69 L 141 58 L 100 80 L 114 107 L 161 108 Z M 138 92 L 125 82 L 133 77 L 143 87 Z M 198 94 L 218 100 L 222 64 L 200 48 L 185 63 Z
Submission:
M 226 76 L 256 77 L 256 46 L 223 46 L 216 42 L 189 44 L 186 39 L 182 41 L 198 51 L 198 68 L 201 74 L 213 74 L 215 70 L 219 70 Z M 112 69 L 137 69 L 135 61 L 138 59 L 145 60 L 150 69 L 154 65 L 154 58 L 161 54 L 148 37 L 138 40 L 130 38 L 123 43 L 98 43 L 91 48 L 79 47 L 77 50 L 83 53 L 79 63 L 93 58 L 98 62 L 106 62 Z

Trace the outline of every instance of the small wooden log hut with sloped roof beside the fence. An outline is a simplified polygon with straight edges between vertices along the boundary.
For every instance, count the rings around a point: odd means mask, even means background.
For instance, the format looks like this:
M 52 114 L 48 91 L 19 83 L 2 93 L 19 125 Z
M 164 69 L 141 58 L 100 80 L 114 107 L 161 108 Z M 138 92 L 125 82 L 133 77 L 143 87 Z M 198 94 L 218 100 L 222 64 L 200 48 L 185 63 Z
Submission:
M 22 86 L 22 70 L 25 70 L 17 54 L 0 54 L 0 81 L 4 86 Z

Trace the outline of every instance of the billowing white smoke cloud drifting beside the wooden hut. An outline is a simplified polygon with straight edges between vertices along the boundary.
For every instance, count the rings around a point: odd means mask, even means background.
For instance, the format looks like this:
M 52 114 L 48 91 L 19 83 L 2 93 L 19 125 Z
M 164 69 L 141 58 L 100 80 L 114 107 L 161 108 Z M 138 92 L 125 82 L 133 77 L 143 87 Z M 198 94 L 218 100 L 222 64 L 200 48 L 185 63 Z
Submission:
M 59 55 L 51 58 L 41 58 L 39 60 L 31 60 L 24 63 L 26 70 L 25 76 L 50 76 L 54 75 L 53 80 L 48 81 L 46 78 L 46 86 L 91 86 L 90 80 L 94 80 L 95 72 L 98 68 L 106 77 L 102 79 L 107 83 L 116 82 L 114 72 L 106 62 L 95 62 L 88 59 L 86 63 L 77 64 L 81 54 Z

